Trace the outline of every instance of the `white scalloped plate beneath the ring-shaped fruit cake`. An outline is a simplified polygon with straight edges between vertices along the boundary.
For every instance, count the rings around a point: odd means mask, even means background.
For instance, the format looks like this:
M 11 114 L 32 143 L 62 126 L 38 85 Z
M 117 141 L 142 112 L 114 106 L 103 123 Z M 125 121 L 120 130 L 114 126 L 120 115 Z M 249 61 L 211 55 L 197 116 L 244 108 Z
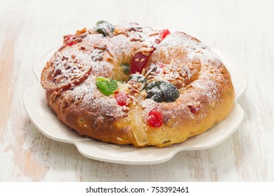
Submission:
M 192 137 L 181 144 L 174 144 L 166 148 L 155 148 L 148 146 L 145 148 L 135 148 L 133 146 L 105 144 L 93 139 L 79 137 L 79 135 L 70 130 L 66 125 L 61 123 L 56 114 L 49 109 L 46 104 L 45 91 L 40 83 L 27 88 L 24 92 L 25 109 L 32 120 L 32 123 L 46 137 L 74 144 L 77 146 L 79 153 L 94 160 L 105 162 L 115 162 L 130 165 L 151 165 L 166 162 L 180 151 L 194 151 L 211 148 L 220 144 L 222 141 L 230 137 L 237 127 L 240 126 L 244 119 L 244 111 L 237 99 L 243 94 L 247 88 L 247 82 L 235 63 L 226 57 L 223 52 L 213 49 L 223 60 L 226 68 L 230 72 L 235 87 L 235 104 L 232 111 L 226 119 L 218 123 L 218 125 L 207 130 L 203 134 Z M 45 59 L 48 59 L 46 55 Z M 42 66 L 46 61 L 41 62 L 40 66 L 34 66 L 34 73 L 39 78 Z

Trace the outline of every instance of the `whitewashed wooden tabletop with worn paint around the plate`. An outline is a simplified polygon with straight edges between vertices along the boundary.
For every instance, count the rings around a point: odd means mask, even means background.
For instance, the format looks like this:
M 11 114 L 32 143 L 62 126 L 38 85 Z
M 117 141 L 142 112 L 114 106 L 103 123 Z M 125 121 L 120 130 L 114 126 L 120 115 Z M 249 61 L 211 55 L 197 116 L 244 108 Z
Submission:
M 0 1 L 0 181 L 274 181 L 274 1 Z M 214 148 L 159 165 L 90 160 L 30 122 L 32 66 L 63 34 L 98 20 L 185 31 L 231 57 L 247 78 L 246 116 Z

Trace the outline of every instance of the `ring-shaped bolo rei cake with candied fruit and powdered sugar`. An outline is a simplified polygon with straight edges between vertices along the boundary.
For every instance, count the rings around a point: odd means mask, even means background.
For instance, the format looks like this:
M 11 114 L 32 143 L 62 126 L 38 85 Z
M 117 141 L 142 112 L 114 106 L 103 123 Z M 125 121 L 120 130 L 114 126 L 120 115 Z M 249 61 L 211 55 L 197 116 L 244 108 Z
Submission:
M 64 36 L 41 73 L 48 106 L 82 137 L 112 144 L 181 143 L 234 102 L 230 73 L 183 32 L 97 22 Z

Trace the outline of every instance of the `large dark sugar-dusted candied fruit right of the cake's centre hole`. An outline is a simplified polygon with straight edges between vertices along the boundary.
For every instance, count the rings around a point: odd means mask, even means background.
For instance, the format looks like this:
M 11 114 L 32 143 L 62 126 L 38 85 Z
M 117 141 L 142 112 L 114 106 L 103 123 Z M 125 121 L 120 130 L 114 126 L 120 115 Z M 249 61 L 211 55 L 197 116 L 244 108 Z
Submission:
M 175 102 L 180 96 L 180 92 L 176 86 L 164 80 L 149 83 L 147 87 L 145 87 L 145 91 L 147 92 L 147 99 L 152 99 L 158 103 Z

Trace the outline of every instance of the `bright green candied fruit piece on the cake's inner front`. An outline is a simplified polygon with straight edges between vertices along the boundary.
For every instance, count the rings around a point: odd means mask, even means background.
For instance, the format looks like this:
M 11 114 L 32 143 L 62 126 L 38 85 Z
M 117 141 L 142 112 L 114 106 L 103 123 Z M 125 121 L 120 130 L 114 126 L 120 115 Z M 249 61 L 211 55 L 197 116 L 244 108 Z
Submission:
M 117 81 L 113 80 L 112 78 L 104 78 L 104 77 L 97 77 L 96 78 L 96 85 L 100 92 L 105 95 L 113 94 L 113 92 L 117 89 Z

